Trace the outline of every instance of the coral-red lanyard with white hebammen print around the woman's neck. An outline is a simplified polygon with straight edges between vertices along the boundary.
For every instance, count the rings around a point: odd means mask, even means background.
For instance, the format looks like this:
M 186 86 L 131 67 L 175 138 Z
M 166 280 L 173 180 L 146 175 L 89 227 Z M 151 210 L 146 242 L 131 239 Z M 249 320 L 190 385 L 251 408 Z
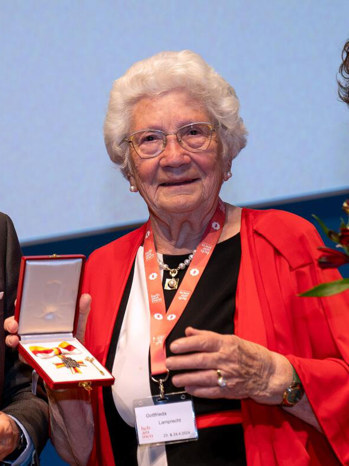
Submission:
M 177 289 L 174 299 L 166 312 L 162 279 L 154 245 L 153 229 L 150 220 L 147 223 L 147 233 L 144 238 L 144 266 L 146 269 L 150 324 L 150 357 L 152 375 L 165 374 L 167 368 L 166 338 L 171 333 L 186 303 L 189 301 L 197 282 L 219 239 L 225 220 L 225 207 L 219 199 L 216 211 L 203 233 L 196 253 L 186 270 L 184 278 Z

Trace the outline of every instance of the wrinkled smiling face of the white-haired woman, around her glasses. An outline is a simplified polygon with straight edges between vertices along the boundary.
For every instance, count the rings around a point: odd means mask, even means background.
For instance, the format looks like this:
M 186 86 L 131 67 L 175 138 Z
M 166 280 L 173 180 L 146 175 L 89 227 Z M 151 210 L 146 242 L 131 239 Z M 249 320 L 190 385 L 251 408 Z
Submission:
M 174 133 L 193 122 L 215 124 L 187 92 L 176 90 L 139 100 L 133 109 L 130 134 L 143 129 Z M 131 146 L 131 184 L 157 215 L 210 208 L 217 201 L 223 182 L 216 133 L 213 132 L 211 143 L 203 152 L 183 149 L 175 135 L 167 138 L 165 150 L 152 159 L 142 159 Z

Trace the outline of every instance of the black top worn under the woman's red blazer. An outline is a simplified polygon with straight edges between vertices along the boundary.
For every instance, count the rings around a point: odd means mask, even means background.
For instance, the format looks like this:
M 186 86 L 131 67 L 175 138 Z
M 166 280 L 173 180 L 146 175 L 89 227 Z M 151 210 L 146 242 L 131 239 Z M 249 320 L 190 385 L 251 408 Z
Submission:
M 179 262 L 183 262 L 187 257 L 188 254 L 174 256 L 164 254 L 163 260 L 171 268 L 176 268 Z M 233 319 L 240 258 L 239 233 L 216 245 L 184 312 L 166 340 L 167 356 L 173 354 L 169 348 L 170 344 L 175 339 L 183 337 L 184 330 L 188 326 L 221 334 L 234 333 Z M 179 284 L 185 271 L 186 269 L 178 272 Z M 120 304 L 108 352 L 106 367 L 110 372 L 113 369 L 117 342 L 130 295 L 133 275 L 134 265 Z M 170 278 L 170 275 L 167 271 L 164 271 L 163 285 L 166 278 Z M 174 290 L 164 290 L 166 310 L 169 309 L 174 295 Z M 165 392 L 171 393 L 182 390 L 172 384 L 171 376 L 176 373 L 178 372 L 171 371 L 170 378 L 165 384 Z M 152 395 L 159 394 L 158 384 L 150 380 L 150 387 Z M 103 388 L 103 400 L 116 465 L 137 466 L 136 432 L 120 417 L 114 404 L 111 387 Z M 239 400 L 224 398 L 209 400 L 193 397 L 193 402 L 196 415 L 240 408 Z M 200 429 L 197 441 L 167 445 L 166 452 L 169 466 L 178 464 L 181 466 L 246 465 L 243 431 L 240 424 Z

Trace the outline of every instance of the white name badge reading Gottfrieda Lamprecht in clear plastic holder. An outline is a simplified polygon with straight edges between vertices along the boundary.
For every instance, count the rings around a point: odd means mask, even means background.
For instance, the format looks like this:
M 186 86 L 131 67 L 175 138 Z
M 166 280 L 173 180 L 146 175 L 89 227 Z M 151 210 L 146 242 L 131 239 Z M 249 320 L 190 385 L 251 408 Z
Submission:
M 140 447 L 198 439 L 192 399 L 186 392 L 135 400 L 133 405 Z

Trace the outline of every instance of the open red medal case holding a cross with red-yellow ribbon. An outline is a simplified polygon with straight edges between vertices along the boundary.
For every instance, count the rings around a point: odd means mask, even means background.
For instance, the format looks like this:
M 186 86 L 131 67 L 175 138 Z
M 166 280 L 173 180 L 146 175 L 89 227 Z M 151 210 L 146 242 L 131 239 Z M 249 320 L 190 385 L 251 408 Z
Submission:
M 114 383 L 75 337 L 85 261 L 79 254 L 21 259 L 14 313 L 18 351 L 54 390 Z

